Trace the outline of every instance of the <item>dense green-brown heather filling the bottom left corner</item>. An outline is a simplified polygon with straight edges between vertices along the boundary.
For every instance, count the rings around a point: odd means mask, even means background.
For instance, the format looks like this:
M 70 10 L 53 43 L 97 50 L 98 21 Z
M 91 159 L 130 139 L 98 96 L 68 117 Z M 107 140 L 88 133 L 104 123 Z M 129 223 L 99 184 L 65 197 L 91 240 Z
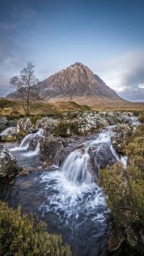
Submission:
M 59 235 L 46 231 L 47 224 L 30 213 L 21 216 L 21 207 L 13 210 L 0 202 L 0 255 L 70 256 L 70 247 L 62 245 Z

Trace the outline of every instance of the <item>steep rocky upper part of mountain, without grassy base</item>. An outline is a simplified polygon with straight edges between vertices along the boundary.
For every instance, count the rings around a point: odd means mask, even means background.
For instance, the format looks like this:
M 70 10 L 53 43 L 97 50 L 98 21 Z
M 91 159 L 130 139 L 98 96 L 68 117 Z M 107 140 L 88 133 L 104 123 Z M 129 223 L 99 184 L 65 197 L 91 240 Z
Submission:
M 73 97 L 118 97 L 117 93 L 110 89 L 100 77 L 78 61 L 34 86 L 41 88 L 40 96 L 46 100 L 54 98 L 65 100 L 68 97 L 69 100 Z M 11 94 L 7 98 L 11 98 Z

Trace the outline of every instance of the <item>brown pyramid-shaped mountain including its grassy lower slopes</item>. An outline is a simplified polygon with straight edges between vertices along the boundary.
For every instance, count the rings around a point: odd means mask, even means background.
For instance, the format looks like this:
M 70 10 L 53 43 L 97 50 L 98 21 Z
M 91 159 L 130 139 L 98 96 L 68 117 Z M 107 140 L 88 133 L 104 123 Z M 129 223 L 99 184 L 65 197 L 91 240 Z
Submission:
M 100 107 L 113 107 L 113 104 L 123 107 L 124 102 L 130 103 L 119 97 L 98 75 L 80 62 L 60 70 L 33 87 L 40 87 L 40 96 L 49 102 L 72 100 Z M 6 98 L 14 99 L 14 94 L 10 93 Z

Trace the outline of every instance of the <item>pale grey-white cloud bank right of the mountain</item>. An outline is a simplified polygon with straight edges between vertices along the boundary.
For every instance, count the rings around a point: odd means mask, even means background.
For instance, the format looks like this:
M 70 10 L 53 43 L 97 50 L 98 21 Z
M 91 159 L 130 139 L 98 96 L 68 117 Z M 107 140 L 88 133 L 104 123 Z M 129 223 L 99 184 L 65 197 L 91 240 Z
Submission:
M 121 97 L 133 102 L 144 100 L 144 51 L 101 63 L 99 70 L 105 83 Z

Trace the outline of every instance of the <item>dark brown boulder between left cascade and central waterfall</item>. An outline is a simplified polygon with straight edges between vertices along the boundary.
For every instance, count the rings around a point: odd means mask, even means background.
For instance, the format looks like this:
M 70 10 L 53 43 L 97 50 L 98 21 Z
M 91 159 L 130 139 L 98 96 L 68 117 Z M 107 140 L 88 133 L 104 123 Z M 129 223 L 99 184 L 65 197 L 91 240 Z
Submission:
M 39 141 L 41 159 L 45 160 L 49 165 L 57 164 L 60 150 L 75 141 L 75 136 L 74 138 L 72 137 L 70 139 L 62 137 L 45 137 L 41 139 Z

